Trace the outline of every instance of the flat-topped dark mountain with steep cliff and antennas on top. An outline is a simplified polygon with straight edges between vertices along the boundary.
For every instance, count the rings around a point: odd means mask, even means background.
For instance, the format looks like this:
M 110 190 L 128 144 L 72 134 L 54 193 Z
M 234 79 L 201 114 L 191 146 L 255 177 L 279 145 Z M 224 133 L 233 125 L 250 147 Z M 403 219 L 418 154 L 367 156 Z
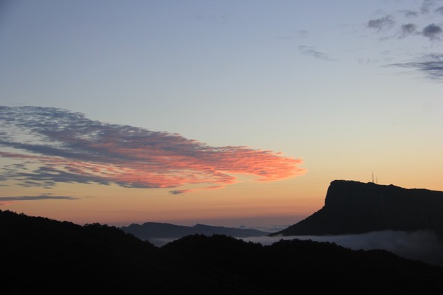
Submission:
M 443 233 L 443 192 L 334 180 L 325 206 L 273 235 L 338 235 L 370 231 Z

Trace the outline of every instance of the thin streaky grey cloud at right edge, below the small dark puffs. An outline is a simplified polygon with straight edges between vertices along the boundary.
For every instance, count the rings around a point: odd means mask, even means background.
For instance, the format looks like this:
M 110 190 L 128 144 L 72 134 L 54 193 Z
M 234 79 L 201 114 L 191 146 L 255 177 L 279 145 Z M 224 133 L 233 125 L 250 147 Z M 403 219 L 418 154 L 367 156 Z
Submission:
M 431 53 L 424 55 L 418 61 L 390 64 L 390 66 L 417 69 L 425 73 L 426 78 L 443 82 L 443 54 Z

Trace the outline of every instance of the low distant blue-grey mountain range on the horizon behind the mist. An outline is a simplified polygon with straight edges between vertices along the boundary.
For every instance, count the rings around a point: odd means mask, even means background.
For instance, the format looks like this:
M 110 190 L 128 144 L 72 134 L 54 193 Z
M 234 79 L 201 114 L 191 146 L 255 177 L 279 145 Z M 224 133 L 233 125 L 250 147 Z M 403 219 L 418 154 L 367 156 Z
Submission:
M 195 226 L 181 226 L 160 222 L 145 222 L 144 224 L 131 224 L 120 227 L 125 233 L 131 233 L 141 240 L 149 240 L 154 244 L 159 239 L 177 239 L 186 235 L 229 235 L 234 238 L 257 237 L 269 235 L 269 232 L 255 229 L 237 229 L 224 226 L 210 226 L 196 224 Z M 164 244 L 164 243 L 163 243 Z

